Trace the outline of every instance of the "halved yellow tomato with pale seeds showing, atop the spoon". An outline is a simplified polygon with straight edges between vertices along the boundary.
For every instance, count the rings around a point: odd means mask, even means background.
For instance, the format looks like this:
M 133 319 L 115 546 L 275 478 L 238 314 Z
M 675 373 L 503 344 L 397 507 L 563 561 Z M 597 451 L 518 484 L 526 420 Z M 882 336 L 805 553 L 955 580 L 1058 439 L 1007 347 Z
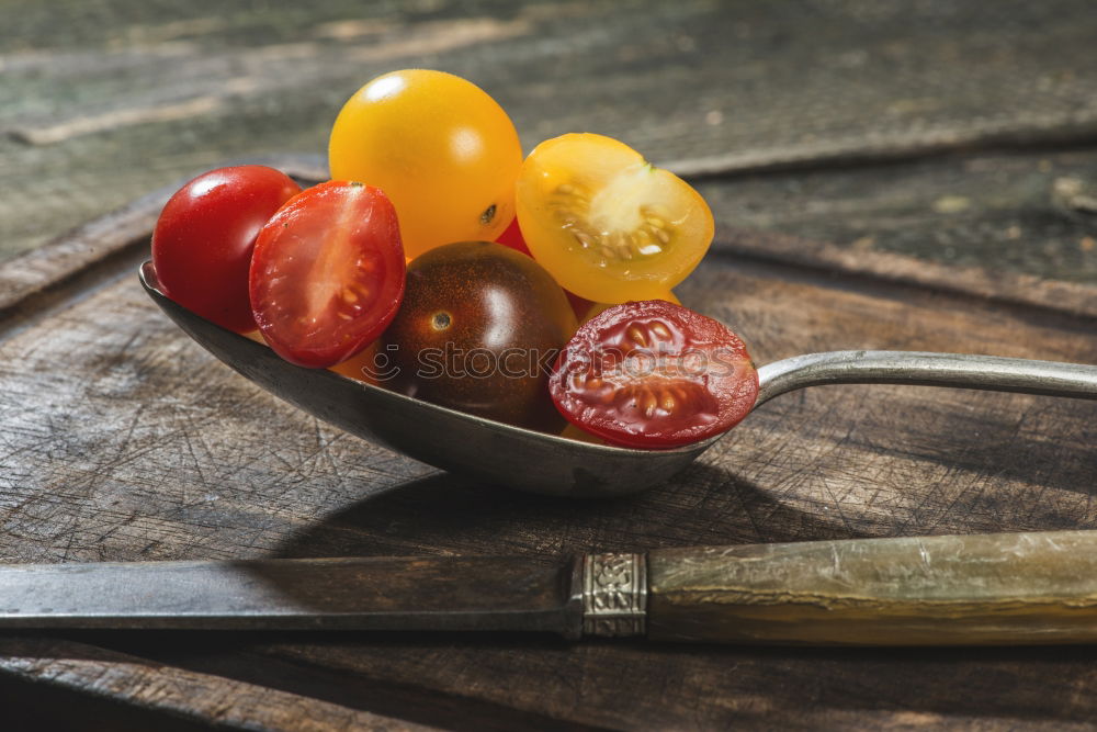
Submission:
M 657 300 L 712 243 L 701 194 L 611 137 L 541 143 L 517 185 L 525 243 L 565 290 L 598 303 Z

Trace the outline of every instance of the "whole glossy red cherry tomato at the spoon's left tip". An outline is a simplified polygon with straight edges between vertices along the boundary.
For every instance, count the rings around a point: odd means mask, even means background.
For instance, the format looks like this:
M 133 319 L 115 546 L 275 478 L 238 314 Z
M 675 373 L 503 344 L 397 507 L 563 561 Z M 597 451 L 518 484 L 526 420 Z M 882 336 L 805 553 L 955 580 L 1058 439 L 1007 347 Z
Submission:
M 251 250 L 263 224 L 301 187 L 265 166 L 203 173 L 168 200 L 152 232 L 165 294 L 217 325 L 255 330 L 248 301 Z

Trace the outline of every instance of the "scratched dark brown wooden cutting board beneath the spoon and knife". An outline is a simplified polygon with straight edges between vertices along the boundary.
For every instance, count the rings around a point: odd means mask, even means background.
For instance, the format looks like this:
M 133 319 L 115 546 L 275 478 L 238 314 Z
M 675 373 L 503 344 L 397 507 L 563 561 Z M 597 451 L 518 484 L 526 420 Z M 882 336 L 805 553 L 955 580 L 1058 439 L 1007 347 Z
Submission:
M 320 174 L 307 161 L 280 164 Z M 0 282 L 23 283 L 4 289 L 0 334 L 2 561 L 548 561 L 1097 522 L 1097 405 L 1016 394 L 885 385 L 789 394 L 667 485 L 618 500 L 528 496 L 439 473 L 269 396 L 157 311 L 136 268 L 163 195 L 50 245 L 56 259 L 41 250 L 37 270 L 26 258 L 0 266 Z M 974 269 L 935 279 L 897 255 L 845 264 L 833 255 L 821 243 L 726 229 L 677 292 L 742 334 L 759 363 L 855 348 L 1097 363 L 1093 288 L 1033 288 Z M 1056 286 L 1074 300 L 1049 295 Z M 572 645 L 519 635 L 0 638 L 0 674 L 32 689 L 201 723 L 316 729 L 405 723 L 387 717 L 476 729 L 1017 720 L 1064 729 L 1097 714 L 1095 660 L 1088 647 Z

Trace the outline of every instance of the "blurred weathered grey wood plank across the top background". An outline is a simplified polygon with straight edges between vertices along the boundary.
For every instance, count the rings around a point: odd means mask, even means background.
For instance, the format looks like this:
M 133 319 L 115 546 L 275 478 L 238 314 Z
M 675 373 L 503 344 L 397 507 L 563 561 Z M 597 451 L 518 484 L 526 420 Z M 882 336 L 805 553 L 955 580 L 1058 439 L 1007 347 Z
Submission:
M 321 153 L 398 67 L 480 83 L 527 148 L 589 129 L 694 173 L 1097 135 L 1085 0 L 83 4 L 0 8 L 3 258 L 226 158 Z

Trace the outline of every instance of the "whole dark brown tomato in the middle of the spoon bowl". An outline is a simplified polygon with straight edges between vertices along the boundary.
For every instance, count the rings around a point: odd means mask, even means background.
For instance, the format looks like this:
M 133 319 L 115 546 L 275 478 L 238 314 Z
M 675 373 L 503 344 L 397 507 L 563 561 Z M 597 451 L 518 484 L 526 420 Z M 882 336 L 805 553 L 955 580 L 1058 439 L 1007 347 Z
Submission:
M 408 266 L 381 352 L 392 388 L 498 421 L 557 432 L 548 374 L 577 327 L 564 291 L 533 259 L 461 241 Z

